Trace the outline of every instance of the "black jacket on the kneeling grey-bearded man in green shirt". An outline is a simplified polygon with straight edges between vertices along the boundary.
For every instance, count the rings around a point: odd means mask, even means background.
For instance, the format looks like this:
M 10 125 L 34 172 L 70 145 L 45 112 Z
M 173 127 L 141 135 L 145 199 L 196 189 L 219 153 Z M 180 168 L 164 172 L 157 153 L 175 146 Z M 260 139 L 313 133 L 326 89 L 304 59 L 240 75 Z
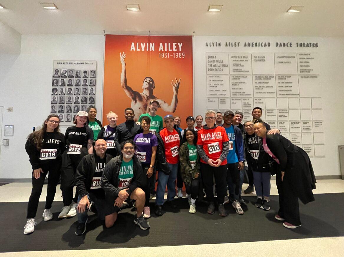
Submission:
M 130 185 L 128 186 L 129 190 L 127 190 L 128 194 L 130 195 L 135 188 L 143 185 L 143 172 L 142 172 L 142 165 L 141 161 L 134 155 L 132 157 L 133 160 L 133 173 L 134 176 L 131 180 Z M 112 158 L 106 165 L 103 175 L 101 176 L 101 187 L 105 191 L 105 198 L 109 202 L 115 201 L 118 197 L 119 191 L 121 189 L 118 188 L 118 173 L 121 169 L 122 164 L 122 155 L 116 156 Z

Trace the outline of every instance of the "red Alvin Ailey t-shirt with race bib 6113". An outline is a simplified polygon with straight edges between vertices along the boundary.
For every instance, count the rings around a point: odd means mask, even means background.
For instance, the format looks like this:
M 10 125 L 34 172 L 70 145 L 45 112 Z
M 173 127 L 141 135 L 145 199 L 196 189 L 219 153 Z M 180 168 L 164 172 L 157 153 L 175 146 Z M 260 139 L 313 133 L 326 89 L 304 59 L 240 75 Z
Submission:
M 213 129 L 202 129 L 197 131 L 197 145 L 203 146 L 205 154 L 216 161 L 220 158 L 222 152 L 222 143 L 229 141 L 226 130 L 221 126 L 216 126 Z M 202 158 L 201 162 L 206 163 Z M 226 165 L 225 159 L 221 165 Z

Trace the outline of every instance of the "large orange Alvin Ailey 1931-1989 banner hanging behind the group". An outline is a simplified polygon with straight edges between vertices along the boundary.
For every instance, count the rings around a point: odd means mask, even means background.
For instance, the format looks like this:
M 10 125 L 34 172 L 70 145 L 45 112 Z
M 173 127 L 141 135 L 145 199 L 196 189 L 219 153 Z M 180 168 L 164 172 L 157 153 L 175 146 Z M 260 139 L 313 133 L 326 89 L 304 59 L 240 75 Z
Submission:
M 120 124 L 131 107 L 135 120 L 157 99 L 157 114 L 193 115 L 192 36 L 106 35 L 103 124 L 114 111 Z

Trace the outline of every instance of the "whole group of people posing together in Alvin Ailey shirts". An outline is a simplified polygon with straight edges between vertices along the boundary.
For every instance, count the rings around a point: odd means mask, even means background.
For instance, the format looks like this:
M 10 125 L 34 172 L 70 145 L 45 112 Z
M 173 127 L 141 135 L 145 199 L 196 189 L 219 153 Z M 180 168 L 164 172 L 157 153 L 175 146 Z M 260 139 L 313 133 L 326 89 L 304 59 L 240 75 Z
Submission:
M 206 196 L 207 213 L 212 215 L 217 209 L 220 216 L 227 216 L 224 204 L 231 201 L 236 213 L 243 215 L 241 188 L 245 173 L 249 186 L 244 192 L 252 192 L 254 186 L 255 205 L 266 211 L 270 210 L 271 175 L 276 174 L 280 206 L 275 218 L 290 229 L 301 226 L 298 199 L 304 204 L 314 200 L 316 182 L 310 159 L 278 129 L 270 129 L 260 119 L 261 108 L 255 107 L 252 119 L 244 124 L 242 112 L 209 110 L 204 116 L 205 125 L 202 115 L 196 119 L 189 116 L 187 127 L 181 129 L 180 117 L 156 114 L 159 106 L 159 101 L 151 100 L 149 112 L 138 119 L 132 108 L 126 108 L 126 121 L 119 125 L 118 115 L 110 111 L 105 126 L 96 119 L 97 110 L 91 106 L 77 113 L 75 125 L 68 127 L 65 135 L 59 132 L 59 117 L 49 115 L 42 129 L 31 133 L 25 145 L 33 172 L 24 234 L 34 231 L 48 172 L 44 221 L 53 217 L 50 208 L 61 174 L 64 207 L 58 218 L 77 215 L 76 235 L 86 231 L 88 210 L 96 212 L 109 228 L 117 213 L 132 205 L 137 211 L 133 222 L 143 230 L 149 229 L 150 199 L 155 196 L 155 215 L 162 216 L 165 204 L 177 207 L 176 191 L 183 197 L 183 184 L 190 213 L 196 212 L 197 199 L 202 201 Z

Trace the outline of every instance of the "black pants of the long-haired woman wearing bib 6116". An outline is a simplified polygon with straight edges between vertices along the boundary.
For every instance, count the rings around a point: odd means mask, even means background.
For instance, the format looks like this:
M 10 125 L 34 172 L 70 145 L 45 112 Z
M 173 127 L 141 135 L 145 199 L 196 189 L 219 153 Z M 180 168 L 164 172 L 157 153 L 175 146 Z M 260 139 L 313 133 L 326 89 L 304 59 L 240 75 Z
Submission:
M 39 203 L 40 196 L 42 193 L 44 180 L 48 171 L 49 171 L 48 187 L 47 187 L 47 194 L 45 198 L 44 209 L 51 208 L 51 205 L 54 201 L 54 197 L 56 193 L 56 185 L 58 183 L 58 180 L 60 179 L 61 159 L 58 159 L 56 161 L 51 161 L 45 165 L 41 164 L 41 169 L 43 173 L 41 173 L 41 176 L 39 179 L 35 179 L 34 176 L 32 175 L 32 190 L 31 190 L 31 195 L 30 195 L 29 203 L 28 203 L 28 213 L 26 215 L 27 219 L 33 219 L 34 217 L 36 217 L 38 203 Z M 32 171 L 32 174 L 33 174 L 33 171 Z

